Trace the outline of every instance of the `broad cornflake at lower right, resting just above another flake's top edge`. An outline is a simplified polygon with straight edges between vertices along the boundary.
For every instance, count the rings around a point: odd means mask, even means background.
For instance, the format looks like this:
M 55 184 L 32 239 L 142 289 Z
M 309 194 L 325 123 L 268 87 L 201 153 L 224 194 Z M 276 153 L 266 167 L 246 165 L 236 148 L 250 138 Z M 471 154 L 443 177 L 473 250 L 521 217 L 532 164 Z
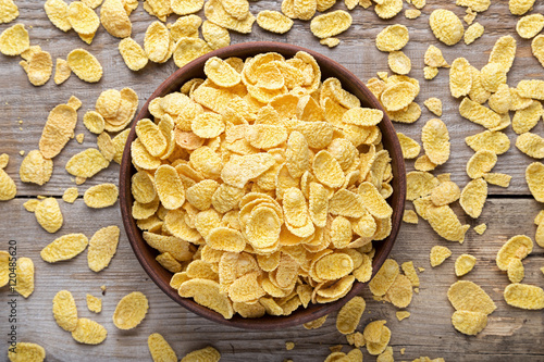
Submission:
M 497 309 L 490 296 L 480 286 L 469 280 L 454 283 L 447 291 L 447 298 L 457 311 L 491 314 Z

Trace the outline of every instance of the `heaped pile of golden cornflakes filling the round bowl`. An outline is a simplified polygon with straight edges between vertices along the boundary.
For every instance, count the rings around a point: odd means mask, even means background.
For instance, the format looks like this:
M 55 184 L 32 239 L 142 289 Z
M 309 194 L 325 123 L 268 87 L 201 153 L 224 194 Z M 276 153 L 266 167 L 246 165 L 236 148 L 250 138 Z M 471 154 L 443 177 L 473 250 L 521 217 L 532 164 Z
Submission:
M 230 319 L 368 282 L 392 228 L 382 111 L 321 84 L 306 52 L 210 58 L 205 73 L 153 99 L 131 145 L 133 216 L 172 287 Z

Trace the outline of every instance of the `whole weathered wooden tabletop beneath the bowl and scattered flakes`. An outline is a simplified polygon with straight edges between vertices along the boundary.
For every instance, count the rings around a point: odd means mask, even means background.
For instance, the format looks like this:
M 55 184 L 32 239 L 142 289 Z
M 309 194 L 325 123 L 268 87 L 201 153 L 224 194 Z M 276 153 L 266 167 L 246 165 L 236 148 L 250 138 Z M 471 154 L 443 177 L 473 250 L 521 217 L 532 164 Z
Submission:
M 17 298 L 17 338 L 20 341 L 38 342 L 47 350 L 48 361 L 148 361 L 147 348 L 149 334 L 161 333 L 172 345 L 181 358 L 185 353 L 203 348 L 215 347 L 222 353 L 222 361 L 320 361 L 329 353 L 329 347 L 343 344 L 346 339 L 335 327 L 335 316 L 331 315 L 319 329 L 306 330 L 301 326 L 277 332 L 250 332 L 228 328 L 201 319 L 187 312 L 172 300 L 149 279 L 134 257 L 125 234 L 121 233 L 119 250 L 110 266 L 94 273 L 87 267 L 85 253 L 69 262 L 48 264 L 39 257 L 40 250 L 60 235 L 84 233 L 90 237 L 97 229 L 118 225 L 122 228 L 119 208 L 103 210 L 87 208 L 79 198 L 74 204 L 60 202 L 64 214 L 64 225 L 57 235 L 46 233 L 25 211 L 23 203 L 38 195 L 60 198 L 65 188 L 75 186 L 72 177 L 64 171 L 66 161 L 76 152 L 96 147 L 96 136 L 90 134 L 79 121 L 76 134 L 84 133 L 85 141 L 79 145 L 71 140 L 67 147 L 54 159 L 54 172 L 51 180 L 42 187 L 23 184 L 18 179 L 18 166 L 26 152 L 38 148 L 38 140 L 49 111 L 59 103 L 66 102 L 70 96 L 77 96 L 83 101 L 78 112 L 79 120 L 84 113 L 94 109 L 99 93 L 109 88 L 121 89 L 132 87 L 140 97 L 140 105 L 153 89 L 176 66 L 173 61 L 166 64 L 150 63 L 144 71 L 134 73 L 123 63 L 118 51 L 119 39 L 110 36 L 100 27 L 91 46 L 84 43 L 73 32 L 64 34 L 57 29 L 47 18 L 42 10 L 42 1 L 16 0 L 21 15 L 16 23 L 24 23 L 29 28 L 32 45 L 40 45 L 55 58 L 63 58 L 75 48 L 84 48 L 95 54 L 101 62 L 104 76 L 100 83 L 89 85 L 75 75 L 61 86 L 52 79 L 42 87 L 33 87 L 17 64 L 20 58 L 0 57 L 0 153 L 10 154 L 7 172 L 15 179 L 17 197 L 0 203 L 0 249 L 7 249 L 8 240 L 16 240 L 17 255 L 29 257 L 36 267 L 36 290 L 25 300 Z M 465 137 L 482 132 L 482 127 L 463 120 L 458 113 L 459 100 L 449 95 L 447 86 L 448 71 L 441 68 L 438 76 L 432 80 L 423 79 L 423 53 L 429 45 L 435 45 L 444 52 L 450 63 L 457 57 L 466 57 L 471 64 L 481 68 L 487 62 L 487 54 L 495 40 L 503 35 L 514 35 L 518 40 L 518 51 L 514 68 L 508 74 L 508 84 L 515 86 L 522 78 L 544 78 L 544 68 L 531 55 L 530 40 L 521 39 L 515 32 L 517 18 L 510 15 L 507 1 L 494 1 L 491 8 L 479 15 L 477 21 L 485 26 L 485 34 L 470 46 L 458 43 L 446 47 L 432 35 L 428 18 L 437 8 L 445 7 L 459 16 L 465 15 L 465 8 L 452 1 L 442 4 L 431 2 L 417 20 L 407 20 L 403 14 L 390 21 L 380 20 L 373 11 L 358 7 L 351 12 L 353 26 L 339 36 L 337 48 L 329 49 L 320 46 L 309 32 L 309 23 L 296 21 L 293 29 L 284 36 L 269 34 L 254 26 L 251 35 L 231 33 L 232 42 L 273 40 L 300 45 L 324 53 L 338 61 L 361 79 L 375 76 L 378 71 L 387 71 L 387 54 L 378 51 L 374 46 L 376 34 L 385 26 L 400 23 L 410 29 L 410 42 L 404 51 L 412 62 L 411 76 L 418 78 L 421 92 L 417 101 L 423 109 L 421 118 L 412 125 L 397 124 L 397 130 L 420 140 L 421 127 L 433 117 L 424 109 L 423 101 L 429 97 L 438 97 L 444 103 L 442 120 L 446 123 L 452 137 L 452 158 L 436 173 L 449 172 L 452 179 L 461 188 L 468 182 L 465 165 L 472 151 L 465 145 Z M 544 3 L 537 1 L 534 12 L 544 12 Z M 261 0 L 251 2 L 254 14 L 263 9 L 280 10 L 280 1 Z M 345 9 L 343 3 L 335 9 Z M 405 4 L 405 9 L 408 5 Z M 201 14 L 203 15 L 203 14 Z M 147 26 L 156 18 L 148 15 L 140 7 L 131 15 L 133 37 L 139 43 L 144 41 Z M 175 18 L 174 18 L 175 20 Z M 172 21 L 171 21 L 172 22 Z M 15 23 L 15 22 L 14 22 Z M 13 23 L 12 23 L 13 24 Z M 12 24 L 0 25 L 3 30 Z M 463 25 L 466 25 L 463 23 Z M 18 121 L 23 121 L 22 124 Z M 535 130 L 544 134 L 542 122 Z M 511 128 L 507 134 L 512 142 L 510 150 L 499 157 L 496 172 L 514 176 L 509 188 L 490 187 L 489 201 L 479 220 L 463 215 L 458 205 L 454 209 L 461 221 L 475 226 L 486 223 L 487 232 L 479 236 L 472 229 L 468 232 L 465 244 L 448 242 L 440 238 L 424 221 L 419 225 L 404 224 L 393 249 L 392 257 L 399 263 L 413 260 L 416 266 L 423 266 L 420 274 L 420 294 L 415 295 L 408 307 L 411 316 L 398 322 L 396 309 L 390 303 L 372 300 L 368 290 L 363 292 L 367 311 L 358 330 L 371 320 L 386 319 L 392 329 L 391 346 L 395 360 L 413 360 L 420 355 L 431 358 L 444 357 L 446 361 L 543 361 L 544 360 L 544 313 L 542 311 L 523 311 L 507 305 L 503 299 L 503 289 L 508 285 L 506 273 L 498 271 L 495 254 L 500 246 L 511 236 L 527 234 L 534 237 L 533 217 L 542 205 L 529 194 L 524 182 L 524 170 L 532 160 L 515 147 L 516 135 Z M 408 162 L 408 170 L 413 170 L 413 162 Z M 90 186 L 101 183 L 118 183 L 119 165 L 112 164 L 108 170 L 79 186 L 79 195 Z M 411 205 L 409 205 L 411 208 Z M 447 246 L 453 251 L 443 265 L 431 269 L 429 251 L 435 245 Z M 482 286 L 497 304 L 497 310 L 490 316 L 487 327 L 477 337 L 457 333 L 450 323 L 454 312 L 446 298 L 448 287 L 458 278 L 454 274 L 454 261 L 461 253 L 471 253 L 478 258 L 475 269 L 462 279 L 472 280 Z M 544 285 L 544 275 L 540 267 L 544 266 L 543 249 L 535 246 L 526 261 L 524 283 Z M 103 310 L 94 314 L 87 310 L 86 294 L 100 296 L 100 286 L 107 286 L 103 296 Z M 92 319 L 108 329 L 107 340 L 99 346 L 84 346 L 75 342 L 69 333 L 62 330 L 54 322 L 51 313 L 53 296 L 61 289 L 71 290 L 82 317 Z M 123 332 L 114 327 L 111 316 L 118 301 L 126 294 L 140 290 L 149 298 L 150 309 L 145 321 L 135 329 Z M 5 335 L 9 330 L 7 302 L 10 299 L 5 288 L 0 292 L 0 360 L 7 354 Z M 296 347 L 286 351 L 285 341 L 294 341 Z M 404 355 L 400 349 L 405 348 Z M 370 357 L 364 350 L 364 359 Z M 373 358 L 371 358 L 373 360 Z

